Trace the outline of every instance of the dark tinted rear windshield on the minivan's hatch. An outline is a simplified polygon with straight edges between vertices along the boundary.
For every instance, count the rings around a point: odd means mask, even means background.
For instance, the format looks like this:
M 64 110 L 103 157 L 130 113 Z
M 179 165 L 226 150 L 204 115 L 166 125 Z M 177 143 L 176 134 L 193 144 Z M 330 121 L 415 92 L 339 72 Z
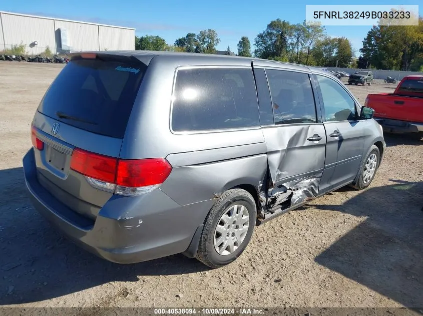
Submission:
M 146 65 L 105 59 L 73 59 L 38 111 L 77 128 L 123 138 Z

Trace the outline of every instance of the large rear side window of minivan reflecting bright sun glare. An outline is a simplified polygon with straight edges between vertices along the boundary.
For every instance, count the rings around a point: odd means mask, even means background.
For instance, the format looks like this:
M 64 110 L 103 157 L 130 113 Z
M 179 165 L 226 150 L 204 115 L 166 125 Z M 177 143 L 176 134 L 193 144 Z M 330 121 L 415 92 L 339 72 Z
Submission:
M 259 126 L 251 69 L 180 69 L 173 98 L 171 125 L 174 131 Z

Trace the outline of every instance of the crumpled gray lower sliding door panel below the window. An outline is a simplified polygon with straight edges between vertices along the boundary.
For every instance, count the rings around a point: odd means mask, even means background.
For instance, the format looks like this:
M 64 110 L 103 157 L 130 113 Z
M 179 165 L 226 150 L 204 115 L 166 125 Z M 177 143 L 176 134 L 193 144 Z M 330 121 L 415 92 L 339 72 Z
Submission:
M 315 198 L 323 173 L 326 141 L 307 140 L 325 135 L 323 124 L 276 126 L 263 129 L 269 169 L 269 206 L 287 207 Z

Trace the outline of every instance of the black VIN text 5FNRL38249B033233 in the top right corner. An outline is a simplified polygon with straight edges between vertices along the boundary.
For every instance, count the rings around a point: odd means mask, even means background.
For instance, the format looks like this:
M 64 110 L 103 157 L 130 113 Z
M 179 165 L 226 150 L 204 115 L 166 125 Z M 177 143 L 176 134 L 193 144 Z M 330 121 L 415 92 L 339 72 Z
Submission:
M 313 11 L 313 18 L 332 19 L 363 19 L 363 18 L 385 18 L 385 19 L 409 19 L 409 11 Z

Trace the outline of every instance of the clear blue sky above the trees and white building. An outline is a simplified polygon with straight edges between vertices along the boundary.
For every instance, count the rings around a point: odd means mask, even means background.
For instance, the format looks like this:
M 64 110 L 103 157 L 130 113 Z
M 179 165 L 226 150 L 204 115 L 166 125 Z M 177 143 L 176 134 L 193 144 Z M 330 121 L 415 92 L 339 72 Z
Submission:
M 134 27 L 136 35 L 159 35 L 168 44 L 185 36 L 188 32 L 198 33 L 202 29 L 212 28 L 221 40 L 218 50 L 226 50 L 228 45 L 237 52 L 237 43 L 241 36 L 247 36 L 254 44 L 256 35 L 276 18 L 292 24 L 305 19 L 305 5 L 316 4 L 310 0 L 21 0 L 2 1 L 0 10 L 18 13 L 66 18 L 103 24 Z M 285 3 L 284 3 L 285 2 Z M 396 3 L 419 4 L 417 0 L 401 0 Z M 321 0 L 318 4 L 346 4 L 334 0 Z M 351 4 L 386 4 L 386 1 L 355 0 Z M 423 5 L 419 6 L 423 15 Z M 359 55 L 359 48 L 371 26 L 326 26 L 326 33 L 332 37 L 347 37 Z M 254 47 L 252 47 L 254 49 Z

